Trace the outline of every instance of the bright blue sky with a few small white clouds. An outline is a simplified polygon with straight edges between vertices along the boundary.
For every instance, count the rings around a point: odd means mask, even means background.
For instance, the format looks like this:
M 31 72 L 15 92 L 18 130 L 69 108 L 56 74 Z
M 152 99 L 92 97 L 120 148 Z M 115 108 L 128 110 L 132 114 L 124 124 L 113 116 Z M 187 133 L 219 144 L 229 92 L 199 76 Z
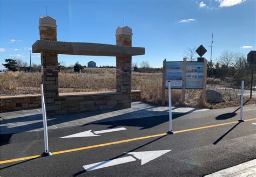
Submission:
M 132 45 L 145 47 L 145 55 L 133 62 L 149 61 L 161 67 L 163 60 L 179 61 L 187 47 L 203 44 L 210 60 L 221 51 L 255 50 L 256 3 L 254 0 L 169 0 L 169 1 L 14 1 L 0 0 L 0 63 L 5 58 L 29 62 L 29 49 L 39 39 L 38 20 L 48 15 L 57 20 L 57 39 L 87 43 L 116 44 L 118 26 L 132 28 Z M 114 57 L 59 55 L 66 66 L 116 65 Z M 39 54 L 32 62 L 41 63 Z

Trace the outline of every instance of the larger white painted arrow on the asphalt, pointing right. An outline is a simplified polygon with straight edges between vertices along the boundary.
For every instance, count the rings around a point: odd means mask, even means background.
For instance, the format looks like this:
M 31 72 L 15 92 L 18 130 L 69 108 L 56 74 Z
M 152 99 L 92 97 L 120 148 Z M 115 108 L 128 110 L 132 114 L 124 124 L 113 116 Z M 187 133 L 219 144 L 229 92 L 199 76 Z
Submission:
M 164 151 L 144 151 L 144 152 L 127 152 L 126 154 L 131 154 L 133 156 L 122 157 L 118 159 L 106 160 L 102 162 L 98 162 L 95 164 L 84 165 L 84 169 L 88 171 L 92 171 L 99 168 L 111 167 L 114 165 L 125 164 L 127 162 L 136 161 L 137 159 L 142 160 L 142 165 L 146 164 L 147 162 L 154 160 L 161 155 L 164 155 L 171 150 L 164 150 Z

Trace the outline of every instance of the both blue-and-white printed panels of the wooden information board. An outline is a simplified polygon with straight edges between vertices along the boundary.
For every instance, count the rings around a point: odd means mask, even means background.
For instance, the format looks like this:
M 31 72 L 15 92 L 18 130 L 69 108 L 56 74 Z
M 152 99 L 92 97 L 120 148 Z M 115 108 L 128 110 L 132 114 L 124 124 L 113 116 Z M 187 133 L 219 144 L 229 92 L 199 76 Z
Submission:
M 204 62 L 186 63 L 186 89 L 203 89 Z M 166 62 L 165 88 L 168 88 L 168 81 L 171 81 L 171 88 L 182 88 L 183 62 Z

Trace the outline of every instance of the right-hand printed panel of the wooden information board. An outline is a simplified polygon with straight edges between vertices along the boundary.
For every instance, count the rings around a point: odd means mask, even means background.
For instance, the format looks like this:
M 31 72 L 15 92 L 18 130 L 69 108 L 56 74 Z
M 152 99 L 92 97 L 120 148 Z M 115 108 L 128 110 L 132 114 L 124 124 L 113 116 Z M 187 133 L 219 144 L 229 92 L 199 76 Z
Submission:
M 204 62 L 187 62 L 186 89 L 203 89 Z

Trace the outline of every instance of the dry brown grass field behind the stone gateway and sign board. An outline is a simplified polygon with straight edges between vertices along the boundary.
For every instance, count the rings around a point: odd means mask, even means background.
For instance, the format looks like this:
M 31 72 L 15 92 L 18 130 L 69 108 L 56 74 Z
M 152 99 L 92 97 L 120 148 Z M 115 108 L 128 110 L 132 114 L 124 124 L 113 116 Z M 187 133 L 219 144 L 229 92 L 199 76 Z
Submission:
M 161 104 L 161 73 L 132 73 L 132 90 L 142 90 L 142 101 L 153 104 Z M 210 80 L 209 80 L 210 81 Z M 0 74 L 0 95 L 24 95 L 39 94 L 41 73 L 9 72 Z M 218 81 L 211 80 L 211 86 Z M 215 83 L 216 82 L 216 83 Z M 208 86 L 207 86 L 208 87 Z M 59 72 L 59 92 L 79 91 L 111 91 L 116 89 L 115 68 L 85 68 L 83 73 Z M 181 90 L 172 89 L 173 105 L 190 106 L 199 108 L 225 108 L 238 106 L 239 97 L 232 95 L 228 100 L 224 95 L 224 102 L 220 104 L 208 104 L 200 102 L 200 90 L 186 90 L 186 102 L 180 105 Z M 166 91 L 166 103 L 167 103 Z M 256 100 L 250 100 L 247 104 L 255 104 Z

